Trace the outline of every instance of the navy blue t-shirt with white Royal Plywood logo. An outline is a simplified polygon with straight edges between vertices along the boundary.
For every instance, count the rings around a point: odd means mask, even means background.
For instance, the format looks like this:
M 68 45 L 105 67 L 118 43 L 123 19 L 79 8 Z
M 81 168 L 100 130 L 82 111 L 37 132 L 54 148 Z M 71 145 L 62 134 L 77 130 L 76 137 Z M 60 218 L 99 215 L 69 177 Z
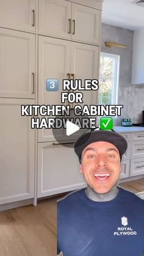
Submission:
M 85 189 L 57 203 L 57 254 L 144 255 L 144 200 L 119 188 L 115 199 L 95 202 Z

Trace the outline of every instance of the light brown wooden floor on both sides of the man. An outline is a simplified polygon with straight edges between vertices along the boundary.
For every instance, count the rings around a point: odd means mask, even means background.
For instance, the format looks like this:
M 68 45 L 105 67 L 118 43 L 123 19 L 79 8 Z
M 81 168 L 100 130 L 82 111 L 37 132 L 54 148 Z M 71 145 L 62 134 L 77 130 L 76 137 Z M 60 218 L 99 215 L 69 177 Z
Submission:
M 144 191 L 144 178 L 118 186 Z M 45 199 L 0 213 L 0 256 L 56 256 L 56 200 Z

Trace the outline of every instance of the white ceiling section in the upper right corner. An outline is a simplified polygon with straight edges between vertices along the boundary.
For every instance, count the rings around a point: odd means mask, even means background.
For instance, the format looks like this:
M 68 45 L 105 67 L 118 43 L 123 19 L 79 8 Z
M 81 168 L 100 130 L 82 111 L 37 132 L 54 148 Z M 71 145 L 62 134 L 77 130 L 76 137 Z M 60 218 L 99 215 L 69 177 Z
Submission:
M 144 4 L 133 4 L 134 0 L 103 0 L 102 22 L 126 29 L 144 27 Z

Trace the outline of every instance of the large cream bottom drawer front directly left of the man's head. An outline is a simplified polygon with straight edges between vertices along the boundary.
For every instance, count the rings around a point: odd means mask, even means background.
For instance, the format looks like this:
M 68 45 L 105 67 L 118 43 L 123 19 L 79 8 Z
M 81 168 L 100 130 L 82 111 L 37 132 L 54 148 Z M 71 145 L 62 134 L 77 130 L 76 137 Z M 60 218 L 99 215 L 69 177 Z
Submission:
M 71 164 L 73 163 L 73 164 Z M 73 148 L 38 143 L 38 197 L 86 187 Z

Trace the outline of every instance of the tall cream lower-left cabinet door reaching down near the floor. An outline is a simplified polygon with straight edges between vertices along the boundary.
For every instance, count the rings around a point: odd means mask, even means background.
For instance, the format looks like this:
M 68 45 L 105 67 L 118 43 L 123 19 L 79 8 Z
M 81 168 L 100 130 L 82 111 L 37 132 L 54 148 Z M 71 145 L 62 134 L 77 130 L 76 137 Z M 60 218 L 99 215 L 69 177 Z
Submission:
M 0 99 L 0 204 L 34 197 L 35 131 L 21 104 L 34 100 Z

